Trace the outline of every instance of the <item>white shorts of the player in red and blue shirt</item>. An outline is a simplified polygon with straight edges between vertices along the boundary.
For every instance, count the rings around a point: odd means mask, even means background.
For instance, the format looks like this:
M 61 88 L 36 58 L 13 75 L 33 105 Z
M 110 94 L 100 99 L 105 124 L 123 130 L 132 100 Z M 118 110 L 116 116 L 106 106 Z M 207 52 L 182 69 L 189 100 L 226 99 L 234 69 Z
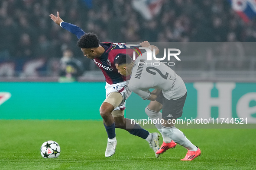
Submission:
M 112 85 L 106 82 L 106 98 L 112 92 L 119 92 L 123 96 L 123 101 L 114 110 L 125 110 L 125 100 L 132 94 L 132 91 L 128 88 L 128 83 L 129 80 Z

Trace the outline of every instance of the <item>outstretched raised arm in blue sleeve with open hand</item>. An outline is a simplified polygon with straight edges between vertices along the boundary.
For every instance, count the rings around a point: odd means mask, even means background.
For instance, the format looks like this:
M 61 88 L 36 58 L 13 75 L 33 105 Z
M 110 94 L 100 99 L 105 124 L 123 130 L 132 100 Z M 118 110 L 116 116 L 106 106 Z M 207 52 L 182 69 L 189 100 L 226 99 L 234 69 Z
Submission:
M 79 39 L 82 35 L 85 34 L 85 32 L 79 28 L 78 26 L 74 25 L 74 24 L 70 24 L 68 22 L 64 22 L 60 17 L 59 17 L 59 13 L 57 12 L 57 17 L 55 15 L 53 15 L 52 13 L 50 14 L 50 18 L 58 25 L 60 25 L 62 28 L 64 28 L 65 30 L 68 30 L 69 32 L 71 32 L 72 34 L 75 34 L 77 36 L 77 38 Z

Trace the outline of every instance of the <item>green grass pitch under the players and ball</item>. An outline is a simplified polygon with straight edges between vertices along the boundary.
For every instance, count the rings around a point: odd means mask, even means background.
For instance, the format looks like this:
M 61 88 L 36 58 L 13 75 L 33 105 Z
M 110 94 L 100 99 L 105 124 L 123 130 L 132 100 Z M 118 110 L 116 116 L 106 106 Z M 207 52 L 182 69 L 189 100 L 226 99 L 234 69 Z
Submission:
M 256 129 L 182 131 L 201 157 L 180 161 L 187 150 L 177 145 L 156 158 L 148 142 L 116 129 L 116 153 L 106 158 L 102 121 L 0 120 L 0 169 L 256 169 Z M 42 158 L 47 140 L 60 145 L 58 158 Z

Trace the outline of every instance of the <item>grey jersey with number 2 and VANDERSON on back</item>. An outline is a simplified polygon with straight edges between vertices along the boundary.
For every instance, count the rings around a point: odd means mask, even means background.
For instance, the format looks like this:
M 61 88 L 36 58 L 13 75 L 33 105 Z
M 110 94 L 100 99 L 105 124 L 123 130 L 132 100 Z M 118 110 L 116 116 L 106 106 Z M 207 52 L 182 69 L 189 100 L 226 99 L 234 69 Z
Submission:
M 160 61 L 147 60 L 146 53 L 135 60 L 128 87 L 144 100 L 149 98 L 150 88 L 162 89 L 168 100 L 181 98 L 187 92 L 180 76 Z

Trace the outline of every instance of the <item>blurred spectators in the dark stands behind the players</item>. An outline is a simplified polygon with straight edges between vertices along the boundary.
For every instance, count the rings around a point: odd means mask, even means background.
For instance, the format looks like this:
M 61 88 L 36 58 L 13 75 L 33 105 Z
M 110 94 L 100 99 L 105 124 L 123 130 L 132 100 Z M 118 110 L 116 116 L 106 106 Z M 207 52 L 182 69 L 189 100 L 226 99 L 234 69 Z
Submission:
M 245 22 L 230 1 L 159 0 L 160 10 L 151 18 L 145 18 L 134 1 L 1 0 L 0 77 L 58 76 L 65 50 L 81 61 L 85 76 L 99 71 L 83 57 L 76 36 L 50 19 L 49 14 L 57 11 L 65 22 L 96 33 L 104 42 L 236 42 L 218 56 L 212 49 L 190 55 L 176 71 L 208 71 L 216 76 L 217 71 L 239 70 L 254 76 L 255 56 L 246 53 L 243 42 L 256 41 L 256 19 Z M 197 66 L 192 67 L 191 61 Z

